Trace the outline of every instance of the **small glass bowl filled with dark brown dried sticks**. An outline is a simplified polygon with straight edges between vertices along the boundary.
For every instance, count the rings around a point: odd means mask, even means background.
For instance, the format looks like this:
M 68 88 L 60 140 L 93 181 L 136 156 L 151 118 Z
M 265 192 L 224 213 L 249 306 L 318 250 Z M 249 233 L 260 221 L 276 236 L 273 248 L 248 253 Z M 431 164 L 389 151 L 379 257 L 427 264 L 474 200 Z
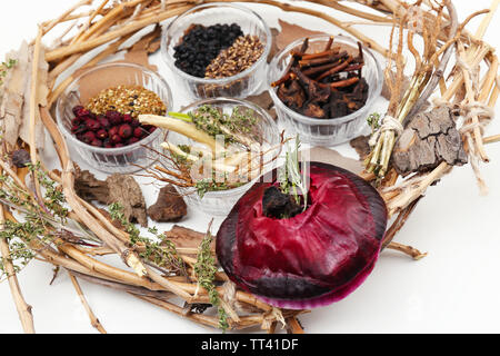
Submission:
M 322 51 L 329 39 L 330 36 L 327 34 L 309 37 L 308 51 Z M 284 75 L 284 70 L 291 59 L 291 51 L 300 49 L 303 40 L 304 38 L 290 43 L 274 56 L 269 68 L 269 82 L 277 81 Z M 333 44 L 334 43 L 347 44 L 353 49 L 358 48 L 357 41 L 344 36 L 336 36 Z M 361 132 L 366 127 L 366 119 L 370 113 L 370 109 L 382 91 L 383 81 L 382 69 L 378 59 L 364 46 L 362 49 L 364 59 L 362 76 L 369 85 L 368 99 L 362 108 L 348 116 L 333 119 L 317 119 L 303 116 L 287 107 L 278 98 L 277 88 L 269 88 L 269 93 L 271 95 L 278 113 L 279 123 L 286 129 L 287 135 L 299 134 L 300 140 L 304 144 L 328 147 L 343 144 Z

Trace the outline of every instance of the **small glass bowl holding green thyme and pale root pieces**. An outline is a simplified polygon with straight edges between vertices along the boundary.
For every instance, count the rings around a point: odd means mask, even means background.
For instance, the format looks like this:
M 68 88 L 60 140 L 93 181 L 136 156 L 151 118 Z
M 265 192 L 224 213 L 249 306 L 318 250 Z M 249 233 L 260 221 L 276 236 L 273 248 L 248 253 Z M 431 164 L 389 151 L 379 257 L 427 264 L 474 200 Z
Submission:
M 230 113 L 236 107 L 243 107 L 247 109 L 253 110 L 256 116 L 259 118 L 257 125 L 262 132 L 262 148 L 261 151 L 266 152 L 263 157 L 263 167 L 261 170 L 261 175 L 259 177 L 253 178 L 252 180 L 243 184 L 233 189 L 229 190 L 219 190 L 219 191 L 207 191 L 203 197 L 200 197 L 196 190 L 196 188 L 183 188 L 176 187 L 180 195 L 184 197 L 186 204 L 191 207 L 199 209 L 210 216 L 213 217 L 223 217 L 227 216 L 234 204 L 241 198 L 241 196 L 250 189 L 250 187 L 259 180 L 266 172 L 272 170 L 277 164 L 277 158 L 281 152 L 280 140 L 281 136 L 278 130 L 278 126 L 274 120 L 269 116 L 269 113 L 262 108 L 253 105 L 252 102 L 246 100 L 237 100 L 230 98 L 214 98 L 214 99 L 204 99 L 182 109 L 181 112 L 187 113 L 196 110 L 197 108 L 203 105 L 211 105 L 216 108 L 221 108 L 224 112 Z M 167 131 L 164 136 L 166 140 L 173 145 L 189 145 L 193 147 L 203 147 L 203 145 L 194 142 L 190 138 L 177 134 L 174 131 Z M 164 151 L 164 150 L 163 150 Z M 170 161 L 164 160 L 164 164 L 168 166 Z

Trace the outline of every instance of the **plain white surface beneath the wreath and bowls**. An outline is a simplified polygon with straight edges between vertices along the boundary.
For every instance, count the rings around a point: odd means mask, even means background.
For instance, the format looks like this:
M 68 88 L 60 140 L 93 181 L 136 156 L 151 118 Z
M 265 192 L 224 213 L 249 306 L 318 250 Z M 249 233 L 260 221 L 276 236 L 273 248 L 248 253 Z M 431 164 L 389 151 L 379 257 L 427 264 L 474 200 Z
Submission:
M 36 36 L 37 23 L 52 19 L 73 1 L 9 1 L 0 11 L 0 58 L 22 39 Z M 489 7 L 488 0 L 456 0 L 459 19 Z M 281 11 L 254 7 L 276 24 Z M 344 14 L 330 11 L 339 18 Z M 329 23 L 300 14 L 282 14 L 311 29 L 339 32 Z M 474 29 L 480 19 L 473 20 Z M 387 43 L 387 32 L 366 28 Z M 498 47 L 499 14 L 486 34 Z M 161 69 L 161 67 L 160 67 Z M 183 103 L 174 91 L 176 106 Z M 499 109 L 496 110 L 497 115 Z M 487 135 L 500 132 L 500 119 Z M 340 151 L 352 155 L 347 147 Z M 487 147 L 491 162 L 481 165 L 489 186 L 482 197 L 470 166 L 456 168 L 428 190 L 396 240 L 429 255 L 413 261 L 408 256 L 384 250 L 372 275 L 348 298 L 316 309 L 300 319 L 308 333 L 499 333 L 500 325 L 500 144 Z M 147 202 L 156 190 L 148 190 Z M 209 221 L 190 211 L 184 226 L 203 230 Z M 216 227 L 220 221 L 216 221 Z M 163 226 L 162 226 L 163 228 Z M 166 225 L 164 228 L 169 228 Z M 118 264 L 118 261 L 113 261 Z M 27 301 L 33 307 L 38 333 L 96 333 L 90 326 L 71 281 L 60 273 L 53 285 L 52 266 L 34 261 L 19 276 Z M 109 333 L 209 333 L 212 329 L 181 319 L 134 297 L 81 280 L 83 291 Z M 0 284 L 0 333 L 22 333 L 9 286 Z

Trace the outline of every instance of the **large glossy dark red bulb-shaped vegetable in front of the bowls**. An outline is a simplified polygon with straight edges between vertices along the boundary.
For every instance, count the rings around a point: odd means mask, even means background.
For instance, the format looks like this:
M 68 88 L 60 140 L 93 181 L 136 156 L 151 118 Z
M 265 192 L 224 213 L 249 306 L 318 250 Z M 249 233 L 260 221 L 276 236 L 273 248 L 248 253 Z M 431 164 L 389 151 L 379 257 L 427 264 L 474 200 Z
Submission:
M 274 171 L 276 174 L 276 171 Z M 262 196 L 277 182 L 257 182 L 236 204 L 217 235 L 228 277 L 266 303 L 309 309 L 340 300 L 373 268 L 387 209 L 360 177 L 310 164 L 310 205 L 292 218 L 262 214 Z

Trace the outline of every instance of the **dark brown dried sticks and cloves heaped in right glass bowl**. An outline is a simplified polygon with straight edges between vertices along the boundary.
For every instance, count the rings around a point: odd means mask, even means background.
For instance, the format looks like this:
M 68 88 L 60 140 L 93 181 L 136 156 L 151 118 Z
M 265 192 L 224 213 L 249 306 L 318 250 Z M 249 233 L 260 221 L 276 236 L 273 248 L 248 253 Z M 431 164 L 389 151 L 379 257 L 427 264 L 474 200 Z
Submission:
M 362 78 L 362 47 L 333 46 L 333 37 L 324 50 L 307 53 L 308 39 L 292 59 L 284 75 L 271 87 L 290 109 L 317 119 L 338 118 L 359 110 L 368 99 L 368 83 Z

